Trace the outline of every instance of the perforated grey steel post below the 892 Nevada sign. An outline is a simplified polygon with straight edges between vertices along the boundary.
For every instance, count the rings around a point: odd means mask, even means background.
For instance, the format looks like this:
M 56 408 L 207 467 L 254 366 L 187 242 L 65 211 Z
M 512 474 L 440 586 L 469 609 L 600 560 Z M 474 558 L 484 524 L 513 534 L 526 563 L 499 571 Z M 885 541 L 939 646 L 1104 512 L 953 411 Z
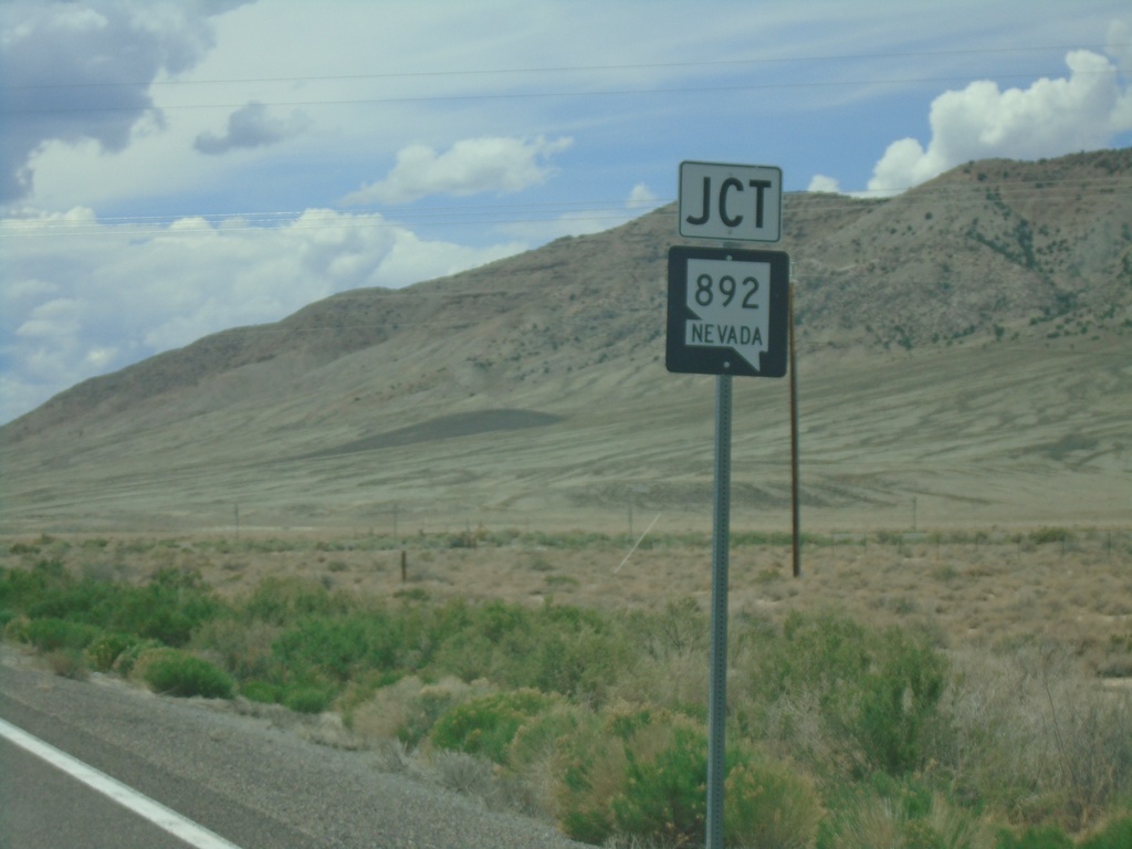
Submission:
M 723 847 L 727 591 L 731 523 L 731 376 L 719 375 L 715 380 L 715 507 L 712 526 L 711 693 L 707 705 L 707 849 Z

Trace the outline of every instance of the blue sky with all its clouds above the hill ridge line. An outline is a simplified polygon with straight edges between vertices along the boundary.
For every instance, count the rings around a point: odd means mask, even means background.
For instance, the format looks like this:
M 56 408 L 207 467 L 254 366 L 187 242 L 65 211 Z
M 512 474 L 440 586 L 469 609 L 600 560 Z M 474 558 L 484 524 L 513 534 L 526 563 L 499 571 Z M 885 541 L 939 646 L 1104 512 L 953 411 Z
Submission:
M 685 160 L 891 196 L 1132 146 L 1127 0 L 0 0 L 0 422 L 616 226 Z

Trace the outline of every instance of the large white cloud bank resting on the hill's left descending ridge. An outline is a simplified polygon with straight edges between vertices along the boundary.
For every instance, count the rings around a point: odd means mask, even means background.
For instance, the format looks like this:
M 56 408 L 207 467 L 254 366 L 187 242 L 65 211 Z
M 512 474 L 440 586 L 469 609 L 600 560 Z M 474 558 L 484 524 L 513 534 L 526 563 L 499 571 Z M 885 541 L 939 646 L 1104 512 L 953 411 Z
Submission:
M 290 223 L 106 225 L 85 211 L 0 221 L 0 421 L 87 377 L 359 286 L 396 288 L 525 250 L 424 240 L 376 214 Z

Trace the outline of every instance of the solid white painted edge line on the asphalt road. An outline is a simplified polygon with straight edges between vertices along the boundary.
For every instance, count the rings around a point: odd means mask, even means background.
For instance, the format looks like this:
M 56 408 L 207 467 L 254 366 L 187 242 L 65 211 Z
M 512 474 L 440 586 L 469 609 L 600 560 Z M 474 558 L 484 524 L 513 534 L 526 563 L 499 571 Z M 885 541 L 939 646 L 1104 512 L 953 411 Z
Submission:
M 119 805 L 129 808 L 138 816 L 145 817 L 154 825 L 164 829 L 173 837 L 183 840 L 197 849 L 240 849 L 235 843 L 230 843 L 220 834 L 208 831 L 208 829 L 181 816 L 160 801 L 154 801 L 132 787 L 123 784 L 121 781 L 83 763 L 76 757 L 71 757 L 50 743 L 44 743 L 38 737 L 33 737 L 22 728 L 17 728 L 2 719 L 0 719 L 0 737 L 5 737 L 20 748 L 31 752 L 36 757 L 46 761 L 52 766 L 78 779 L 87 787 L 109 796 Z

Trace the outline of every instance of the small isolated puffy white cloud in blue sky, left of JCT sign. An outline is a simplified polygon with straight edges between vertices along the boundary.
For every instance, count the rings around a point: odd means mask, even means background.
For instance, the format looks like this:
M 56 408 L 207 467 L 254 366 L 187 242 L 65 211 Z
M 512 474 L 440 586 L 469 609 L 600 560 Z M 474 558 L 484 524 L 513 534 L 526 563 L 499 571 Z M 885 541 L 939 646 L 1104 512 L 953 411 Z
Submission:
M 384 180 L 363 186 L 342 203 L 402 204 L 428 195 L 521 191 L 550 177 L 554 169 L 544 161 L 573 143 L 568 137 L 550 142 L 542 136 L 483 136 L 456 142 L 443 154 L 427 145 L 410 145 L 397 153 L 397 164 Z

